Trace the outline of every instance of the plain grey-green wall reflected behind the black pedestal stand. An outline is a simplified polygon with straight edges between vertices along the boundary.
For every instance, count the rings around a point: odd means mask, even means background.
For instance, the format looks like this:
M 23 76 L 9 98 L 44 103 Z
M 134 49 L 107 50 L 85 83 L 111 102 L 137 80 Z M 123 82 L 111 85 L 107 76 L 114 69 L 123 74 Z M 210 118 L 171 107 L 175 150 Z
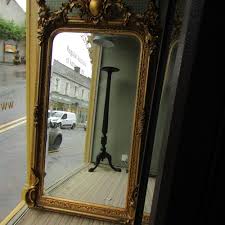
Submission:
M 114 44 L 113 48 L 103 48 L 101 67 L 120 69 L 112 74 L 107 133 L 107 151 L 112 155 L 113 164 L 120 165 L 122 154 L 129 155 L 131 149 L 140 44 L 133 37 L 117 37 Z M 107 73 L 102 71 L 99 76 L 92 161 L 101 149 L 106 82 Z

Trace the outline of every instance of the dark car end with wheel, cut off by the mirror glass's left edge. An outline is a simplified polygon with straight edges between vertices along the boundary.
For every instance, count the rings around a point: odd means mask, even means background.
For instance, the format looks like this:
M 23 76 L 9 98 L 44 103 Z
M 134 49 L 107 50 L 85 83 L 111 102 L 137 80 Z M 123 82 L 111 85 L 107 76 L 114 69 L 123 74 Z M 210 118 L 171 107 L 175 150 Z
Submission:
M 48 115 L 51 115 L 51 112 L 48 112 Z M 62 143 L 62 132 L 53 124 L 48 118 L 48 150 L 57 150 L 59 149 Z

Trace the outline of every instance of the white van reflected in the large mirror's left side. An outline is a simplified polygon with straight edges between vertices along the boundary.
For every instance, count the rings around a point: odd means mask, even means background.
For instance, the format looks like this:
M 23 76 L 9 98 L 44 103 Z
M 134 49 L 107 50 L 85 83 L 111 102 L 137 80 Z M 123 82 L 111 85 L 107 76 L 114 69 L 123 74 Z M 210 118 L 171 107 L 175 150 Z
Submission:
M 49 120 L 60 128 L 74 129 L 77 125 L 76 114 L 72 112 L 53 110 Z

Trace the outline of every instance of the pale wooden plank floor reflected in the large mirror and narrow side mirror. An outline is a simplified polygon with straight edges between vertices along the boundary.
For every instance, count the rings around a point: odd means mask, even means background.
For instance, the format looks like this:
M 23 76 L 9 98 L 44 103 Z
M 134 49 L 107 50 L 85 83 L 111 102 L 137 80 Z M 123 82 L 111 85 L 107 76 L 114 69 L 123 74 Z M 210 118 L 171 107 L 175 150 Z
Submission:
M 48 191 L 48 195 L 60 198 L 77 200 L 89 203 L 109 205 L 124 208 L 126 206 L 126 193 L 128 173 L 115 172 L 108 166 L 99 166 L 95 172 L 88 172 L 84 167 L 63 183 Z M 150 212 L 155 179 L 149 178 L 145 211 Z

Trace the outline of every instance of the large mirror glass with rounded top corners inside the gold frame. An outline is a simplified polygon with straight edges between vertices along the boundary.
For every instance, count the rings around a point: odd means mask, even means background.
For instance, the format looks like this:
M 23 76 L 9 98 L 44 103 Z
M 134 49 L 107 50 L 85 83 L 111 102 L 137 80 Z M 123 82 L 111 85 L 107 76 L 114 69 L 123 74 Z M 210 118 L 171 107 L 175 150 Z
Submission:
M 131 35 L 55 36 L 45 195 L 125 208 L 140 53 Z

